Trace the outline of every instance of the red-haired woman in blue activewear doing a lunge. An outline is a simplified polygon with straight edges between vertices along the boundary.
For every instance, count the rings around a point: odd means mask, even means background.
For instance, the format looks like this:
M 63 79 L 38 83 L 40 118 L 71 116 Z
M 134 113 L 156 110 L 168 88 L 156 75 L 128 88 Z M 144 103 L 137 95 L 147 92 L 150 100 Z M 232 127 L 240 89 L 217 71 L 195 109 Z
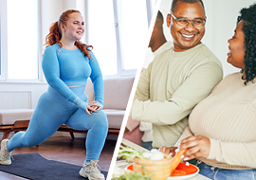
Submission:
M 66 10 L 46 36 L 42 67 L 48 90 L 38 100 L 26 132 L 1 142 L 0 164 L 11 164 L 10 153 L 21 147 L 44 142 L 66 124 L 75 130 L 88 130 L 86 160 L 80 174 L 89 179 L 104 179 L 97 167 L 108 130 L 103 107 L 104 86 L 97 59 L 81 40 L 84 22 L 78 10 Z M 93 82 L 95 100 L 84 93 L 87 79 Z

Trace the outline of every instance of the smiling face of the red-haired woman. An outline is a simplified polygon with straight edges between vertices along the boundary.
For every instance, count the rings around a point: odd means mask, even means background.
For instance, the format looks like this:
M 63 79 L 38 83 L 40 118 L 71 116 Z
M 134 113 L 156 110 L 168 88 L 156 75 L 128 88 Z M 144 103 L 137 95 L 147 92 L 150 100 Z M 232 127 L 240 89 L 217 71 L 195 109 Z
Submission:
M 84 33 L 84 22 L 81 13 L 69 14 L 66 24 L 62 24 L 62 34 L 70 41 L 81 40 Z

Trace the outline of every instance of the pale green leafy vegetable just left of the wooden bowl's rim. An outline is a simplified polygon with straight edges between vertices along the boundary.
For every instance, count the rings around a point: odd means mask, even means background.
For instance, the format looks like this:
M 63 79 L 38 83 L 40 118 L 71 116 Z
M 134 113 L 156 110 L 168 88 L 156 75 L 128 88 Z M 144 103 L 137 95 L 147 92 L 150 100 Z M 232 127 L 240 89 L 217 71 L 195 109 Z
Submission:
M 120 146 L 118 157 L 121 157 L 123 159 L 134 158 L 134 157 L 137 157 L 137 158 L 140 158 L 140 159 L 146 159 L 146 157 L 144 157 L 142 155 L 142 153 L 140 153 L 137 150 L 134 150 L 130 147 Z

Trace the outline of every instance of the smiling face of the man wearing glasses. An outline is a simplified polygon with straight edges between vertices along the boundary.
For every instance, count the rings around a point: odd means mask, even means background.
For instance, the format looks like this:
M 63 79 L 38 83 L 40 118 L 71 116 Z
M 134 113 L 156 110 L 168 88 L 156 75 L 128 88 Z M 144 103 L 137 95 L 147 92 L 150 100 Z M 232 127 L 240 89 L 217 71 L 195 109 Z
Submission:
M 173 14 L 177 18 L 182 17 L 188 20 L 206 19 L 204 8 L 200 2 L 188 4 L 178 1 L 174 7 Z M 203 27 L 193 27 L 192 22 L 190 22 L 187 27 L 181 27 L 176 24 L 171 14 L 167 16 L 167 26 L 171 26 L 174 51 L 177 52 L 199 45 L 205 34 L 205 25 Z

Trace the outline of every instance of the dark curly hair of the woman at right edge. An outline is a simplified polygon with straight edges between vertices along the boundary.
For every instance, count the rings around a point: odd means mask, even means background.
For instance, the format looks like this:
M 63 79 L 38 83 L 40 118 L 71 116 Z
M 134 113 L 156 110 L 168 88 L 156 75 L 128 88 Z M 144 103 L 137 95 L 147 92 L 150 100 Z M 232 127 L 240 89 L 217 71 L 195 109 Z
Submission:
M 249 8 L 241 9 L 240 16 L 237 18 L 237 24 L 244 20 L 242 30 L 245 34 L 245 69 L 246 81 L 253 81 L 256 77 L 256 4 Z

